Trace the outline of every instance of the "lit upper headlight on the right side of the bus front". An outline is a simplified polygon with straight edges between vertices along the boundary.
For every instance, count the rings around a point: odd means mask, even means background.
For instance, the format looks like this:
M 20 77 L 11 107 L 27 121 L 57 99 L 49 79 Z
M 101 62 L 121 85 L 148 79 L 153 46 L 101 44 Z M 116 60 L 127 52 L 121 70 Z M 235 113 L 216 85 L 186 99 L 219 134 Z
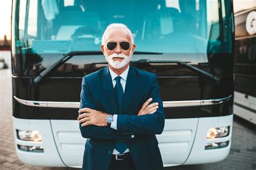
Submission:
M 229 132 L 229 126 L 225 127 L 213 127 L 207 132 L 207 139 L 226 137 Z

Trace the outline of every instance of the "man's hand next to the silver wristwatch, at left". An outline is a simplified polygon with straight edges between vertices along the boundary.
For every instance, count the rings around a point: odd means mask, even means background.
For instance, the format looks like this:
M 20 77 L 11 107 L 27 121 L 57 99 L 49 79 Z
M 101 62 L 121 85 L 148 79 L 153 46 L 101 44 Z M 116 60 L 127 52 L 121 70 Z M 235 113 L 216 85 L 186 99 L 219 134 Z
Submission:
M 87 125 L 107 126 L 107 123 L 105 120 L 106 116 L 109 115 L 107 113 L 103 113 L 87 107 L 81 108 L 78 111 L 78 113 L 82 113 L 77 118 L 77 120 L 79 120 L 78 121 L 79 124 L 83 123 L 81 126 L 87 126 Z

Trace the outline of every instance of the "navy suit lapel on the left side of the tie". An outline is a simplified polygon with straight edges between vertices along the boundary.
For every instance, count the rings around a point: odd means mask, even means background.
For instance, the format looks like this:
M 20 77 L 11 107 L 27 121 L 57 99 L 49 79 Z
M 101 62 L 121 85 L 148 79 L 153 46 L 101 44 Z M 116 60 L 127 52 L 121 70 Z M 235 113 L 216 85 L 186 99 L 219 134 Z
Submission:
M 117 104 L 116 104 L 116 96 L 114 96 L 114 88 L 112 79 L 109 73 L 109 67 L 106 66 L 102 75 L 102 83 L 104 87 L 104 91 L 106 93 L 107 100 L 109 101 L 109 105 L 111 107 L 113 114 L 118 114 Z

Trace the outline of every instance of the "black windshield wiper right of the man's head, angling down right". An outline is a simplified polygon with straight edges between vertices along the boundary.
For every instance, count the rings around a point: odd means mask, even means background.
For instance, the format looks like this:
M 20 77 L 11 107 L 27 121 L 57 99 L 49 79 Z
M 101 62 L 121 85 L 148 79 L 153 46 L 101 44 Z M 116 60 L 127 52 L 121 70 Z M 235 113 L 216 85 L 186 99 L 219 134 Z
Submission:
M 212 83 L 214 83 L 215 85 L 219 85 L 220 84 L 220 79 L 216 76 L 214 76 L 211 73 L 208 73 L 204 70 L 199 69 L 198 67 L 192 66 L 188 63 L 191 62 L 183 62 L 183 61 L 179 61 L 179 60 L 150 60 L 150 59 L 140 59 L 137 61 L 131 61 L 131 63 L 166 63 L 166 64 L 179 64 L 182 65 L 184 67 L 186 67 L 187 69 L 190 69 L 193 72 L 196 72 L 197 74 L 199 74 L 200 76 L 210 79 Z

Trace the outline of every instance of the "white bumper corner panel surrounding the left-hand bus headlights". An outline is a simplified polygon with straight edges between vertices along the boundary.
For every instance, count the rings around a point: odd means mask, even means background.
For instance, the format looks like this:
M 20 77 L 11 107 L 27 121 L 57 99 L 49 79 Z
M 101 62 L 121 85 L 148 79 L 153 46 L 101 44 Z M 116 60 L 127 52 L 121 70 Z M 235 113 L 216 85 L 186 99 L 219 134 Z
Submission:
M 45 167 L 65 167 L 59 157 L 53 139 L 50 120 L 18 119 L 12 117 L 14 124 L 15 148 L 19 160 L 24 164 Z M 17 130 L 39 131 L 42 141 L 26 141 L 18 139 Z M 22 147 L 43 147 L 43 152 L 24 151 Z

